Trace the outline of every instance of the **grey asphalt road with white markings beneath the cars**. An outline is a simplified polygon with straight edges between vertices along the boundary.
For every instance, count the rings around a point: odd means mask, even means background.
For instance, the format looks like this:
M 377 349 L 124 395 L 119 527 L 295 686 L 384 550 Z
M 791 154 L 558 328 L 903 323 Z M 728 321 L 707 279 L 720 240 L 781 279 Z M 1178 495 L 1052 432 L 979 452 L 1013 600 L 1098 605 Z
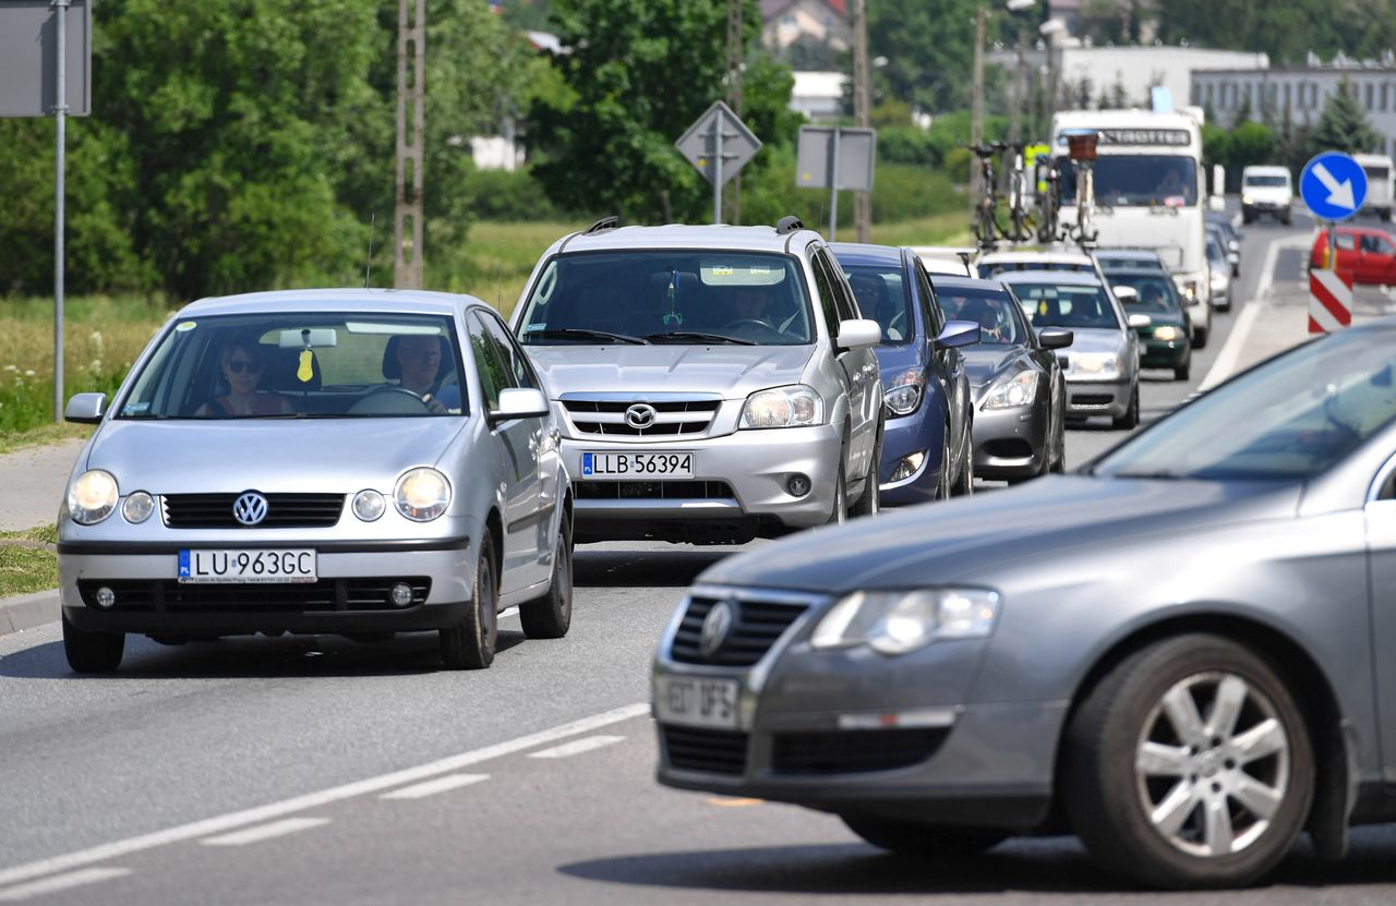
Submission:
M 1301 229 L 1247 233 L 1237 311 L 1269 242 Z M 1146 419 L 1192 392 L 1234 320 L 1191 384 L 1146 383 Z M 1071 431 L 1069 461 L 1122 436 Z M 133 638 L 120 674 L 80 678 L 56 625 L 0 638 L 0 902 L 1396 902 L 1389 828 L 1337 866 L 1301 845 L 1265 888 L 1163 895 L 1071 838 L 917 863 L 828 815 L 656 786 L 653 646 L 729 551 L 582 547 L 568 638 L 505 618 L 480 673 L 440 671 L 427 635 Z

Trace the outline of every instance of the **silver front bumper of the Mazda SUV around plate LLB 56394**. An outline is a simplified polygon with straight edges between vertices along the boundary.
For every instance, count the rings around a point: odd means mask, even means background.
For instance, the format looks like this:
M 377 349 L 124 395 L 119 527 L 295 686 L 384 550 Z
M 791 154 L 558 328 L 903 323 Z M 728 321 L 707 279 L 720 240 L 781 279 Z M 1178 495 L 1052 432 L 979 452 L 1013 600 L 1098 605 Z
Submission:
M 584 452 L 692 452 L 694 477 L 595 480 L 582 472 Z M 843 437 L 833 424 L 644 443 L 563 440 L 578 540 L 755 537 L 824 525 L 842 456 Z M 810 479 L 803 497 L 786 487 L 794 475 Z

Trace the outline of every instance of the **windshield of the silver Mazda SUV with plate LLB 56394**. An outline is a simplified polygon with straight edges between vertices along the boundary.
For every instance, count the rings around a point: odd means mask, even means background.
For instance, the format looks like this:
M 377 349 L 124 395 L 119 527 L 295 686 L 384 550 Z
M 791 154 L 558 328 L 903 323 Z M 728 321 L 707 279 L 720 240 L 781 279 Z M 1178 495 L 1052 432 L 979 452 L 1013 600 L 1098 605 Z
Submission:
M 803 345 L 815 335 L 797 258 L 669 248 L 554 257 L 518 332 L 567 345 Z

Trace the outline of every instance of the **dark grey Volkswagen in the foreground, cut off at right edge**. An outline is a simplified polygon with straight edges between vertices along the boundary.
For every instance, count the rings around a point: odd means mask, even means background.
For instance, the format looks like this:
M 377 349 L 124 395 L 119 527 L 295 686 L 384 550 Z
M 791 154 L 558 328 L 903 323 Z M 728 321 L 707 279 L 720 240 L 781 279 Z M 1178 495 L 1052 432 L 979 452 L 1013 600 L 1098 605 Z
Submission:
M 660 782 L 903 853 L 1075 832 L 1161 886 L 1396 821 L 1396 318 L 1093 466 L 698 577 L 655 664 Z

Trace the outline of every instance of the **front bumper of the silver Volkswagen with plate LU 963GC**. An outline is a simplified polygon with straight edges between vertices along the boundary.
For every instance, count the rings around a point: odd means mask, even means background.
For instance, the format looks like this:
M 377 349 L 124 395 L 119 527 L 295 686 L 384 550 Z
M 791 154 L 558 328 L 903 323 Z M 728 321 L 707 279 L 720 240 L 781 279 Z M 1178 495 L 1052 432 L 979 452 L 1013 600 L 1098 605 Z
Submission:
M 179 551 L 191 547 L 314 547 L 314 584 L 211 584 L 177 581 Z M 469 537 L 392 544 L 121 543 L 59 544 L 63 614 L 80 630 L 148 635 L 253 632 L 399 632 L 459 623 L 472 602 L 475 558 Z M 387 591 L 413 588 L 395 607 Z M 99 588 L 116 602 L 101 607 Z

